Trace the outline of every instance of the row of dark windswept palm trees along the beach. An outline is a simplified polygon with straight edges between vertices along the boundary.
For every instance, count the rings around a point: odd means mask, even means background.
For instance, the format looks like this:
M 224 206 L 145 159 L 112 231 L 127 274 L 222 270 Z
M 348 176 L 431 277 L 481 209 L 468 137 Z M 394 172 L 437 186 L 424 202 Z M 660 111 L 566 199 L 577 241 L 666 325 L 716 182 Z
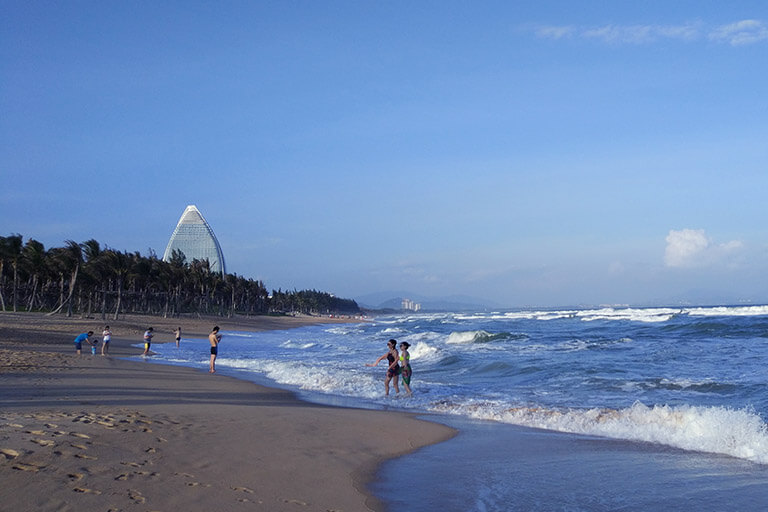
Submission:
M 324 292 L 273 291 L 262 281 L 211 270 L 208 260 L 188 262 L 174 251 L 166 262 L 102 247 L 96 240 L 46 249 L 19 234 L 0 236 L 0 309 L 53 315 L 125 313 L 232 316 L 300 312 L 356 314 L 352 300 Z

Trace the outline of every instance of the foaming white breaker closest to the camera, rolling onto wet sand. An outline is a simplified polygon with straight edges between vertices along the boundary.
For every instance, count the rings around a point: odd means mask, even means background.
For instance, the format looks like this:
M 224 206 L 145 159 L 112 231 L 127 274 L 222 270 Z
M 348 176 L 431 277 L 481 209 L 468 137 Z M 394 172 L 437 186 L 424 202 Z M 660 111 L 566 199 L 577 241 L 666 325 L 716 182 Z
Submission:
M 626 409 L 555 410 L 494 402 L 433 404 L 437 412 L 526 427 L 643 441 L 768 464 L 768 425 L 754 411 L 635 403 Z

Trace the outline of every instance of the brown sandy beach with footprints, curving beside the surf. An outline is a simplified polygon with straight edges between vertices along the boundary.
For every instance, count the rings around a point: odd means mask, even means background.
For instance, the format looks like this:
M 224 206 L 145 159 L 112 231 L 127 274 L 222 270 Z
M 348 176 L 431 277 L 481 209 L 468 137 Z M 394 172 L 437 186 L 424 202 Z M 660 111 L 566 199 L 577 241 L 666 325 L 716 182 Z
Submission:
M 66 319 L 0 314 L 0 503 L 8 510 L 384 510 L 367 490 L 387 459 L 450 438 L 389 411 L 326 407 L 205 369 L 127 361 L 155 342 L 287 329 L 313 317 Z M 104 324 L 111 357 L 72 340 Z M 183 338 L 182 338 L 183 343 Z M 85 347 L 84 347 L 85 348 Z

